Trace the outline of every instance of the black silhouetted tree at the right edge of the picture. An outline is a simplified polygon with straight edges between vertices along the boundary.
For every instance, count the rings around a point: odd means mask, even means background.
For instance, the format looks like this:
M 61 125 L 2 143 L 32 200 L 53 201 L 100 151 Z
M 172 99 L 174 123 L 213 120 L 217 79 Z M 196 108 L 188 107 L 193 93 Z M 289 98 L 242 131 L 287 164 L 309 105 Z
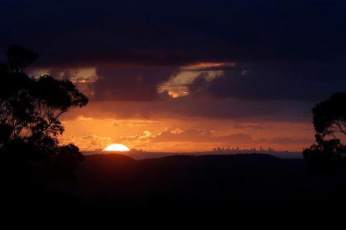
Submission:
M 311 169 L 330 171 L 345 162 L 346 146 L 336 133 L 346 135 L 346 93 L 336 93 L 313 107 L 316 144 L 304 149 L 304 159 Z M 333 137 L 327 139 L 327 137 Z

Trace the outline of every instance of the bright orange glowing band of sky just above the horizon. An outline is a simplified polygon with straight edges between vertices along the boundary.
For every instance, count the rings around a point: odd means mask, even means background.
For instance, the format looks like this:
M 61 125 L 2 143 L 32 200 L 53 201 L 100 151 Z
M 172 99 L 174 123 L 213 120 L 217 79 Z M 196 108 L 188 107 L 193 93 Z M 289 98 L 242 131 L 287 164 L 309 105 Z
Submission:
M 302 148 L 313 144 L 313 126 L 308 122 L 161 118 L 166 116 L 164 112 L 152 113 L 149 117 L 117 117 L 118 113 L 108 113 L 105 109 L 113 106 L 115 111 L 133 109 L 133 113 L 140 113 L 136 111 L 136 105 L 130 102 L 92 102 L 89 108 L 83 108 L 83 113 L 72 111 L 75 116 L 62 120 L 66 131 L 59 141 L 61 144 L 73 143 L 84 152 L 104 150 L 115 143 L 129 149 L 155 152 L 212 151 L 215 147 L 244 148 L 244 144 L 246 148 L 260 149 L 262 146 L 266 149 L 302 151 Z M 210 135 L 203 133 L 204 129 L 208 129 Z M 251 135 L 252 138 L 244 143 L 244 140 L 237 139 L 237 133 Z M 230 139 L 232 135 L 235 136 Z

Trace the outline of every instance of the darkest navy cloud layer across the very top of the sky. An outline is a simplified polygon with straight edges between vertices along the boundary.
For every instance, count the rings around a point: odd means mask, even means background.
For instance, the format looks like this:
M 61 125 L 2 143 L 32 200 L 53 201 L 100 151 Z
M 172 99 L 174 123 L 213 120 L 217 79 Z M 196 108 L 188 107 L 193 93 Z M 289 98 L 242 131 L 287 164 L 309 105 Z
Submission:
M 41 64 L 345 60 L 344 1 L 5 1 L 1 49 Z

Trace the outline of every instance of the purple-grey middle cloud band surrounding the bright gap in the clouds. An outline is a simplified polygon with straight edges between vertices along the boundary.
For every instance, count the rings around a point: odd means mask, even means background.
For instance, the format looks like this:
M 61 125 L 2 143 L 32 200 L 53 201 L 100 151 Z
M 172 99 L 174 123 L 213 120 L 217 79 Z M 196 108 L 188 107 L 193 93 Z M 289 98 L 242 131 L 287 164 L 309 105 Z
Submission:
M 76 78 L 74 70 L 53 68 L 51 75 L 88 82 L 76 84 L 81 90 L 86 89 L 91 100 L 152 101 L 171 99 L 167 91 L 158 93 L 158 86 L 186 73 L 184 68 L 174 66 L 125 65 L 95 70 L 95 76 Z M 215 99 L 319 102 L 346 88 L 344 66 L 340 64 L 235 64 L 197 70 L 197 77 L 186 85 L 195 99 L 207 95 Z M 215 70 L 222 74 L 212 79 L 210 73 Z

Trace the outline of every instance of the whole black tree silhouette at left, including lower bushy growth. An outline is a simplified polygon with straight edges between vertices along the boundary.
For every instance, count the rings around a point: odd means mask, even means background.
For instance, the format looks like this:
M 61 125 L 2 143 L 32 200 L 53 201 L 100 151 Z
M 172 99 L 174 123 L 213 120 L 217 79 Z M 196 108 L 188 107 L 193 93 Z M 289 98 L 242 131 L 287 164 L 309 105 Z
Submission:
M 72 172 L 82 153 L 73 144 L 59 145 L 57 136 L 64 132 L 59 118 L 88 98 L 67 79 L 29 77 L 25 70 L 37 59 L 35 52 L 11 45 L 6 56 L 0 63 L 1 169 L 17 179 L 48 168 L 54 173 L 47 175 Z

